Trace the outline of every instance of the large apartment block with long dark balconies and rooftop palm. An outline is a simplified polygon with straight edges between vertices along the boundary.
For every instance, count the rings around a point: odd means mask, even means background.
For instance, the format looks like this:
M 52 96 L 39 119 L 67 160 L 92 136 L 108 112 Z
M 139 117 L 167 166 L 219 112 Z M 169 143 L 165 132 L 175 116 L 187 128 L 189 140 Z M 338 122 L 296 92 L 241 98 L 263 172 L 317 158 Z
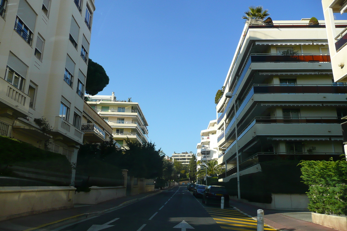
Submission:
M 347 86 L 334 82 L 324 21 L 308 20 L 246 23 L 216 107 L 220 181 L 236 177 L 236 143 L 240 164 L 342 154 Z M 335 24 L 340 34 L 347 20 Z M 251 167 L 243 174 L 261 171 Z

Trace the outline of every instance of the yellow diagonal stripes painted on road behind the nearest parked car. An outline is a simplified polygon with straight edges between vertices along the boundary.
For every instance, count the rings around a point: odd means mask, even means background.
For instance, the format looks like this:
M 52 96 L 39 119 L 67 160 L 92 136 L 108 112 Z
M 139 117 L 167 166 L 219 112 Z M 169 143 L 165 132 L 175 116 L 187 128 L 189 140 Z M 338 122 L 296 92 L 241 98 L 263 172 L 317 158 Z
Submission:
M 257 222 L 254 219 L 234 209 L 205 207 L 205 210 L 222 229 L 234 231 L 257 230 Z M 264 225 L 264 230 L 275 231 L 276 229 L 272 229 L 268 225 Z

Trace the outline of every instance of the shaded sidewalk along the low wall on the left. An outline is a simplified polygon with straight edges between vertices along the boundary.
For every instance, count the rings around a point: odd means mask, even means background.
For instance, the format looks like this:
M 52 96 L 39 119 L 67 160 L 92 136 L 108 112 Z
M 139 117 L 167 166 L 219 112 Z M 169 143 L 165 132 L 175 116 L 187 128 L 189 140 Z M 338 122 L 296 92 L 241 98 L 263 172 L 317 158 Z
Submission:
M 169 187 L 164 190 L 172 188 Z M 34 231 L 44 230 L 48 226 L 62 226 L 81 221 L 102 213 L 116 210 L 117 208 L 134 203 L 145 197 L 153 196 L 164 190 L 141 193 L 134 196 L 126 196 L 96 205 L 75 205 L 67 210 L 49 211 L 29 216 L 18 217 L 6 221 L 0 221 L 0 231 Z M 50 227 L 51 228 L 51 227 Z

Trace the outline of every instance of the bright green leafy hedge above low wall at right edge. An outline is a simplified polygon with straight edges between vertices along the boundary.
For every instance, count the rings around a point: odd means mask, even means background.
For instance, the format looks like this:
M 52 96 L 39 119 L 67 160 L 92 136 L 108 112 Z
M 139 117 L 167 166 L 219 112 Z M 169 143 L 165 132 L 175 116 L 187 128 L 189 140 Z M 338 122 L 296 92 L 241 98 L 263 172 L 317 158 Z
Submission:
M 315 213 L 347 215 L 347 161 L 302 161 L 308 186 L 308 209 Z

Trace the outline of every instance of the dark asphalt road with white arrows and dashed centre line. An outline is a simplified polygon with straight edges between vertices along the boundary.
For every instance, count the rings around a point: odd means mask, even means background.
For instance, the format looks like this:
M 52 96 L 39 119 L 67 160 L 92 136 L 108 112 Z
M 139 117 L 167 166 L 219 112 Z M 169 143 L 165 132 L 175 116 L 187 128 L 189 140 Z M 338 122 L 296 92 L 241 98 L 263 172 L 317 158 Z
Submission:
M 185 186 L 178 186 L 116 211 L 56 231 L 189 231 L 189 229 L 222 230 L 201 202 Z

